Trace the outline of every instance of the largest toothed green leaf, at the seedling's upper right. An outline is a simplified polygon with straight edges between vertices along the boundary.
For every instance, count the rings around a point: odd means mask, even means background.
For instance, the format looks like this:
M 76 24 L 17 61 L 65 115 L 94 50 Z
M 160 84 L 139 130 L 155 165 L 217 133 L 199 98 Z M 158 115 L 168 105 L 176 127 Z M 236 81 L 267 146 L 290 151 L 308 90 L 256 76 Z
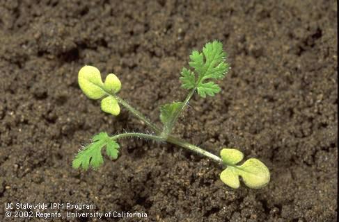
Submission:
M 205 44 L 203 52 L 193 51 L 189 56 L 191 61 L 189 66 L 194 69 L 194 73 L 188 69 L 182 69 L 180 80 L 185 89 L 198 89 L 198 94 L 205 98 L 206 95 L 214 96 L 221 91 L 216 83 L 209 79 L 223 78 L 230 68 L 226 60 L 226 53 L 223 51 L 223 44 L 218 41 Z M 196 75 L 198 78 L 196 78 Z

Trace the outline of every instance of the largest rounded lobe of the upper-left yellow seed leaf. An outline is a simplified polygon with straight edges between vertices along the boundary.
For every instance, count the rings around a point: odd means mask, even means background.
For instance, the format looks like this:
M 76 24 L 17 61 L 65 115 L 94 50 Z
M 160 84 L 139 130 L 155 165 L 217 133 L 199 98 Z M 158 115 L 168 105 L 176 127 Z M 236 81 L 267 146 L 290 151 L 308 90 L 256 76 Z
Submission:
M 99 69 L 86 65 L 79 70 L 79 86 L 84 94 L 90 99 L 100 99 L 106 93 L 104 92 Z

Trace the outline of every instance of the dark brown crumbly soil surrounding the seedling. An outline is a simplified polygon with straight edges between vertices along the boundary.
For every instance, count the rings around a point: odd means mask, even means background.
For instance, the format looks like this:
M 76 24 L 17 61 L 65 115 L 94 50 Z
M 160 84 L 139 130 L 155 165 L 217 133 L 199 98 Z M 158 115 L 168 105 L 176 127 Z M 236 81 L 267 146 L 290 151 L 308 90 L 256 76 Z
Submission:
M 335 1 L 0 2 L 0 221 L 29 221 L 5 218 L 5 203 L 91 203 L 143 221 L 336 221 Z M 120 96 L 159 123 L 159 105 L 187 93 L 178 77 L 189 53 L 210 40 L 232 70 L 221 94 L 192 99 L 175 133 L 258 157 L 267 187 L 230 189 L 210 160 L 132 139 L 116 162 L 72 169 L 96 133 L 147 130 L 86 99 L 80 67 L 116 73 Z

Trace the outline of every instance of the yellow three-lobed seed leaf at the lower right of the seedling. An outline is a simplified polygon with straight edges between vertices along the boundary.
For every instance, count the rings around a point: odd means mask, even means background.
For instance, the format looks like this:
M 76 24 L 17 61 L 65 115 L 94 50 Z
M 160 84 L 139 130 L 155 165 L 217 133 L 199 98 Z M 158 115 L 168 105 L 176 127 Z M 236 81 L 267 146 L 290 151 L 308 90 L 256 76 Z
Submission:
M 269 169 L 260 160 L 251 158 L 244 164 L 237 166 L 242 161 L 244 154 L 230 148 L 221 150 L 221 160 L 227 166 L 220 174 L 220 179 L 226 185 L 237 189 L 240 185 L 239 176 L 242 177 L 247 187 L 260 189 L 265 187 L 270 180 Z

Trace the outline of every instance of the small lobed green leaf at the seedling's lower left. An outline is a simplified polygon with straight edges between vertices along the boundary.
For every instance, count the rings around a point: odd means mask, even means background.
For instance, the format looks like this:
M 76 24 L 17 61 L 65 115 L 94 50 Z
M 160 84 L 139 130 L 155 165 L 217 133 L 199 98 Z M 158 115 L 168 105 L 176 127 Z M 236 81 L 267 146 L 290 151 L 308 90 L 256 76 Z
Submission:
M 87 170 L 88 167 L 97 169 L 104 163 L 101 150 L 106 146 L 107 155 L 115 160 L 118 157 L 119 145 L 113 141 L 107 133 L 99 133 L 93 137 L 93 142 L 85 146 L 85 148 L 77 154 L 72 162 L 72 167 L 78 169 L 81 167 Z

